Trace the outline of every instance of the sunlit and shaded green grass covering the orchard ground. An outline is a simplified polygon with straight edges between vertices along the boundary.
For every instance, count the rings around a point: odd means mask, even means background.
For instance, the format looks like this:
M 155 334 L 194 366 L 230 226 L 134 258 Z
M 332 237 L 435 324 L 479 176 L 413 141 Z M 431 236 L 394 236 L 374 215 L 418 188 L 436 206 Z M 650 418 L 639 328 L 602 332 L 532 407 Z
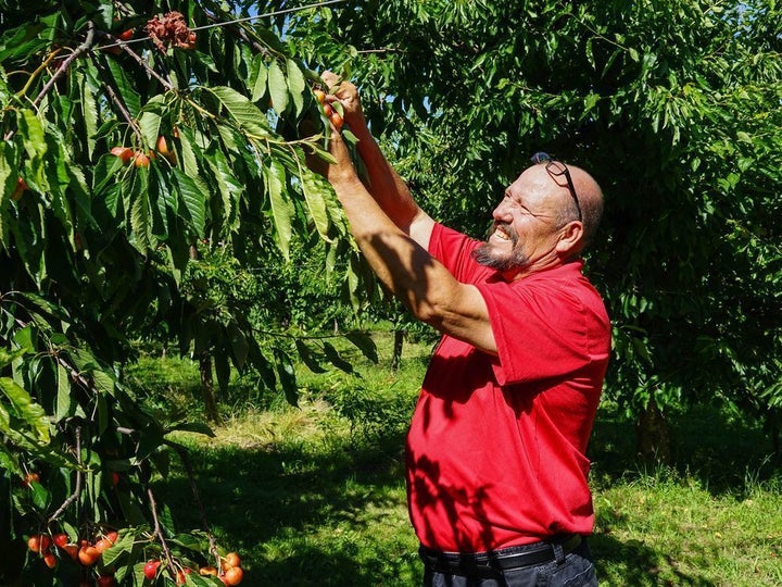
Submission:
M 179 434 L 193 453 L 207 519 L 220 544 L 243 554 L 248 586 L 420 584 L 407 520 L 403 446 L 430 347 L 406 345 L 403 366 L 357 355 L 356 380 L 300 372 L 302 400 L 230 392 L 216 438 Z M 155 387 L 147 403 L 198 405 L 187 361 L 148 359 L 135 371 Z M 263 408 L 263 409 L 261 409 Z M 671 422 L 673 466 L 641 466 L 632 424 L 601 408 L 593 461 L 596 526 L 590 540 L 602 585 L 782 585 L 782 469 L 757 427 L 699 409 Z M 157 491 L 184 528 L 200 527 L 187 480 L 175 470 Z

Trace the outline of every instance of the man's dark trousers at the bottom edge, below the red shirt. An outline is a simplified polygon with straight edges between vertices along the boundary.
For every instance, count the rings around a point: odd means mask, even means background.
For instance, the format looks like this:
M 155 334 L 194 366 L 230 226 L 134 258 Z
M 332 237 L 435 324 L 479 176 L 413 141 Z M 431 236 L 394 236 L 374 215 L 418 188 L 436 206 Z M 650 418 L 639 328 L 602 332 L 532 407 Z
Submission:
M 515 566 L 507 562 L 519 554 L 535 551 L 541 544 L 497 550 L 487 557 L 487 565 L 466 564 L 463 569 L 450 561 L 439 564 L 421 550 L 425 563 L 424 587 L 596 587 L 592 554 L 586 539 L 564 552 L 560 544 L 553 544 L 553 560 L 531 565 Z M 462 557 L 464 558 L 464 557 Z

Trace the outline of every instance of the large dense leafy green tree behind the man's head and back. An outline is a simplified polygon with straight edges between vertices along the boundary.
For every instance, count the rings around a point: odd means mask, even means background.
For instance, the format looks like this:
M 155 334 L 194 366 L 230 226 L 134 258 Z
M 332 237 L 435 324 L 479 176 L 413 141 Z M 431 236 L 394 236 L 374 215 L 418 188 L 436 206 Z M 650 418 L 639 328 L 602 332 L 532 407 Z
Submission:
M 665 413 L 693 402 L 779 437 L 780 23 L 774 2 L 390 1 L 303 13 L 290 34 L 362 86 L 439 220 L 482 237 L 539 150 L 595 175 L 607 397 L 665 458 Z

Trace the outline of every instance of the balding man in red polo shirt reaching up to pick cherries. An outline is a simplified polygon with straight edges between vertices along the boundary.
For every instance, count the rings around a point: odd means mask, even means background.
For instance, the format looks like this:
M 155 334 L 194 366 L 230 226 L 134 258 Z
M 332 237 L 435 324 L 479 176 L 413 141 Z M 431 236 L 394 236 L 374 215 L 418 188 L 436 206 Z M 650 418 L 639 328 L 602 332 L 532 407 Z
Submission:
M 407 437 L 407 492 L 428 586 L 596 585 L 584 455 L 610 349 L 579 253 L 602 213 L 583 170 L 543 153 L 478 242 L 413 200 L 369 134 L 358 92 L 327 72 L 367 172 L 339 133 L 333 186 L 382 283 L 442 339 Z

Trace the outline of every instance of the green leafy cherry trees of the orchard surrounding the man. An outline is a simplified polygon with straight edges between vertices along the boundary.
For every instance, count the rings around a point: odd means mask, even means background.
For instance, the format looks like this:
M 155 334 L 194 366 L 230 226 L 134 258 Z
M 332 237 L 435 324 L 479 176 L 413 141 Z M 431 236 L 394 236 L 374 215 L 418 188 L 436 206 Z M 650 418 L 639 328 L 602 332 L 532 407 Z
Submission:
M 592 171 L 606 398 L 639 452 L 665 455 L 666 415 L 698 402 L 779 452 L 780 22 L 752 1 L 0 0 L 0 584 L 252 584 L 197 479 L 199 527 L 155 491 L 191 471 L 175 433 L 210 427 L 146 412 L 125 375 L 134 341 L 163 340 L 217 421 L 213 376 L 295 404 L 295 362 L 351 370 L 249 271 L 298 248 L 339 273 L 320 303 L 378 294 L 305 163 L 353 138 L 325 68 L 421 204 L 476 237 L 531 153 Z

